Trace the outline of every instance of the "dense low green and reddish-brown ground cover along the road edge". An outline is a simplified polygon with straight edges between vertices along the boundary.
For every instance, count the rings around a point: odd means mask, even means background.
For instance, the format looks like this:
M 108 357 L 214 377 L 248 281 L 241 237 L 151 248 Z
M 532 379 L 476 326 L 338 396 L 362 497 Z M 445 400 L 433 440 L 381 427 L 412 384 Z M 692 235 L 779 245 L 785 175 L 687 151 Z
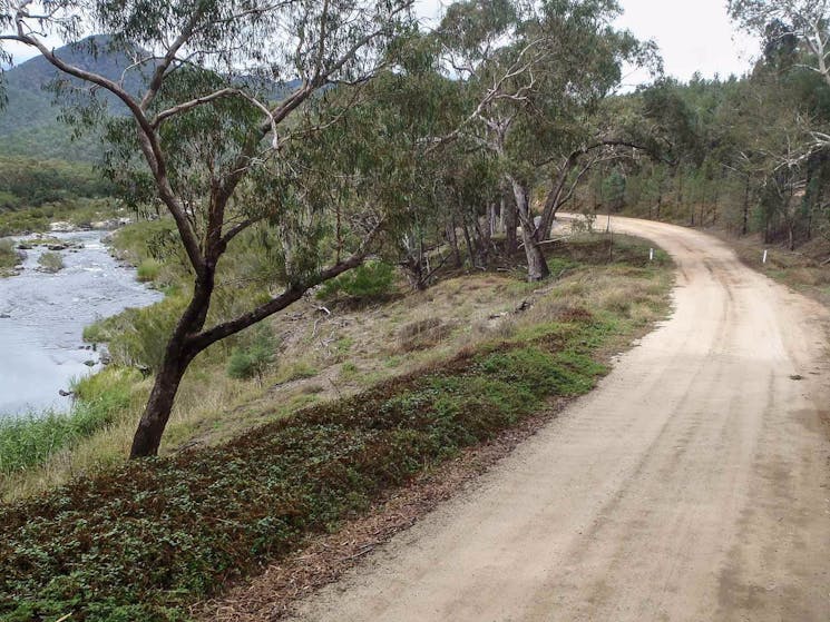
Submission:
M 595 327 L 467 353 L 224 446 L 131 462 L 0 509 L 0 620 L 174 621 L 382 490 L 590 388 Z

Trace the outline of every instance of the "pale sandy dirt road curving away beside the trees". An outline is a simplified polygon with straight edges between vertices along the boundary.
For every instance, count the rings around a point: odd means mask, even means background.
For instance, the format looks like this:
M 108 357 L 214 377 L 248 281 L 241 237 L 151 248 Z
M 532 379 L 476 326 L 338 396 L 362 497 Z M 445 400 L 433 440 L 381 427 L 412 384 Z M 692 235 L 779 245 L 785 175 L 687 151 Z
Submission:
M 704 234 L 614 228 L 677 261 L 671 320 L 300 619 L 830 620 L 827 312 Z

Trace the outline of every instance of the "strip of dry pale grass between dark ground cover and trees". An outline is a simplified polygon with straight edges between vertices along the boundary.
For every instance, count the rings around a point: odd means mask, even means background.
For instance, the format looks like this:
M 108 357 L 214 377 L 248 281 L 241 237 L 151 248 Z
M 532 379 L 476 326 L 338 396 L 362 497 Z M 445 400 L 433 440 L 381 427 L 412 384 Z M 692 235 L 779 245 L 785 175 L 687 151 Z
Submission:
M 577 251 L 590 259 L 585 247 Z M 313 300 L 300 302 L 271 319 L 281 349 L 277 367 L 262 383 L 231 379 L 222 366 L 197 365 L 188 372 L 162 454 L 226 442 L 304 406 L 352 395 L 568 314 L 613 312 L 645 327 L 665 315 L 671 278 L 661 266 L 613 264 L 568 270 L 544 285 L 524 283 L 516 274 L 476 273 L 391 303 L 331 315 Z M 523 304 L 527 309 L 517 313 Z M 136 386 L 133 406 L 71 452 L 0 478 L 0 495 L 7 501 L 29 496 L 123 462 L 149 389 L 150 379 Z

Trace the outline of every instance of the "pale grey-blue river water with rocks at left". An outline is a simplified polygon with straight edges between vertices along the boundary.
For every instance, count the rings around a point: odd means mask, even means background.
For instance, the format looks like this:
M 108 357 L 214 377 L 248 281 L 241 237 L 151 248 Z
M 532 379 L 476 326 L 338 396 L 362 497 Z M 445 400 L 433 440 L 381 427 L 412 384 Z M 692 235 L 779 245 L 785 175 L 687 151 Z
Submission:
M 51 234 L 82 245 L 76 251 L 60 251 L 62 270 L 38 271 L 45 249 L 35 247 L 26 250 L 19 276 L 0 278 L 0 417 L 69 408 L 71 398 L 58 392 L 67 391 L 72 378 L 101 367 L 98 353 L 85 349 L 84 327 L 162 298 L 136 282 L 134 269 L 109 255 L 101 241 L 105 235 Z

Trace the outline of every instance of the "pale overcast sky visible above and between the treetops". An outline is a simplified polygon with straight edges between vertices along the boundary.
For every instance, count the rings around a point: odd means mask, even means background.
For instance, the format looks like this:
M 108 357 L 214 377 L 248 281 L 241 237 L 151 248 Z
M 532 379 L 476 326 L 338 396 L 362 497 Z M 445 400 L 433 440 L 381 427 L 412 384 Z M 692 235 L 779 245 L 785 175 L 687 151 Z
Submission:
M 666 73 L 681 80 L 689 80 L 695 71 L 706 78 L 741 75 L 758 52 L 758 43 L 730 22 L 726 0 L 621 0 L 621 4 L 625 13 L 618 26 L 641 39 L 654 39 Z M 441 7 L 441 0 L 417 0 L 419 14 L 427 18 L 440 14 Z M 16 63 L 32 56 L 26 49 L 7 49 Z M 631 87 L 647 79 L 646 75 L 631 75 L 625 83 Z

